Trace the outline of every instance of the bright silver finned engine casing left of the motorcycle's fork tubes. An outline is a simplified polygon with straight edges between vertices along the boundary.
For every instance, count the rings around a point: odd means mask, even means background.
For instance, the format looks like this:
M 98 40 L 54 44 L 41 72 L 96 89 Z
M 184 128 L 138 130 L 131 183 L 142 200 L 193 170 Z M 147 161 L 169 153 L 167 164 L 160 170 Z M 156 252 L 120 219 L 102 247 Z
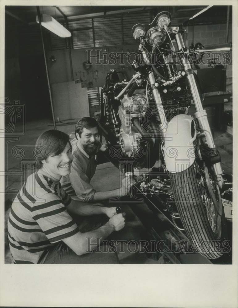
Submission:
M 121 120 L 120 145 L 124 153 L 133 156 L 140 146 L 141 134 L 133 125 L 132 119 L 141 119 L 148 107 L 145 90 L 136 90 L 132 96 L 125 95 L 119 106 L 119 118 Z

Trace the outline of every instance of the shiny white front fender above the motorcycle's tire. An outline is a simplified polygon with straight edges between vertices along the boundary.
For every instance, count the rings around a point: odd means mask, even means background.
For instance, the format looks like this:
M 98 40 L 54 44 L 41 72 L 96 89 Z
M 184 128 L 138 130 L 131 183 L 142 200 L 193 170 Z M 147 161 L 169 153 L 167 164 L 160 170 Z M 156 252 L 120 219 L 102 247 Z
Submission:
M 193 141 L 196 135 L 196 123 L 190 115 L 176 115 L 168 123 L 163 151 L 169 172 L 181 172 L 193 164 L 195 159 Z

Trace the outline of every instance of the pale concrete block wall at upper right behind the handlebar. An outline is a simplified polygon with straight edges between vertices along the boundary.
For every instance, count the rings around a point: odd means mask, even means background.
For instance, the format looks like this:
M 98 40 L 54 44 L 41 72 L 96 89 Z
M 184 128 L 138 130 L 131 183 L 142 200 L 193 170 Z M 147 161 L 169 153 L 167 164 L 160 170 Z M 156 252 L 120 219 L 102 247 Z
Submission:
M 205 47 L 211 44 L 226 43 L 226 24 L 188 26 L 184 38 L 187 46 L 190 46 L 192 42 L 194 45 L 196 43 L 202 43 Z M 232 42 L 232 23 L 229 24 L 228 42 Z M 211 58 L 211 56 L 206 56 L 204 59 Z M 227 91 L 232 92 L 232 53 L 230 53 L 230 59 L 230 63 L 226 66 L 226 75 Z M 205 67 L 207 66 L 201 65 L 201 68 Z

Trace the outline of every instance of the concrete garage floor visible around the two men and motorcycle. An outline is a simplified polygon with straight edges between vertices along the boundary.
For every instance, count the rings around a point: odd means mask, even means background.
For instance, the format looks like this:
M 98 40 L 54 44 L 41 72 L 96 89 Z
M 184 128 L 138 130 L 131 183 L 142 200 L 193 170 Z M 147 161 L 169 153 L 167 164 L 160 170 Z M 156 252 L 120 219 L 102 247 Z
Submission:
M 228 105 L 225 106 L 225 110 L 231 109 L 232 103 L 228 103 Z M 74 126 L 75 124 L 64 126 L 58 125 L 57 129 L 69 134 L 74 131 Z M 17 138 L 5 138 L 5 174 L 7 175 L 5 176 L 5 210 L 9 208 L 9 205 L 15 198 L 18 189 L 23 185 L 24 177 L 27 176 L 23 175 L 23 164 L 27 164 L 28 167 L 32 165 L 32 151 L 37 137 L 40 133 L 49 129 L 53 129 L 51 120 L 35 120 L 25 124 L 24 135 L 19 135 Z M 221 154 L 222 168 L 225 173 L 232 175 L 232 135 L 228 132 L 216 131 L 214 133 L 214 138 L 215 144 L 219 148 Z M 91 183 L 96 190 L 110 190 L 117 188 L 119 185 L 118 169 L 110 162 L 98 165 L 96 174 Z M 5 212 L 5 231 L 8 212 L 9 211 Z M 137 224 L 141 224 L 138 219 Z M 5 242 L 5 263 L 11 263 L 9 247 L 6 240 Z M 141 260 L 138 259 L 138 262 L 153 263 L 154 261 L 142 257 Z M 163 263 L 163 260 L 159 260 L 157 263 Z

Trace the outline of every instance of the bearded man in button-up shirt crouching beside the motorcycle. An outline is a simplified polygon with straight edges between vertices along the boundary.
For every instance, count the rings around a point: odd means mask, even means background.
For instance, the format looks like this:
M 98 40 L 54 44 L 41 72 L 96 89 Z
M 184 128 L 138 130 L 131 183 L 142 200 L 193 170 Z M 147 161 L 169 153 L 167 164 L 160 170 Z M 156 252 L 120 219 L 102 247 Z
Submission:
M 95 174 L 95 154 L 100 149 L 106 150 L 106 146 L 99 141 L 99 126 L 91 117 L 81 118 L 75 126 L 75 138 L 71 140 L 73 163 L 71 173 L 62 177 L 62 188 L 71 195 L 77 196 L 84 202 L 100 202 L 110 198 L 126 195 L 134 184 L 132 179 L 124 179 L 121 188 L 96 191 L 90 184 Z

